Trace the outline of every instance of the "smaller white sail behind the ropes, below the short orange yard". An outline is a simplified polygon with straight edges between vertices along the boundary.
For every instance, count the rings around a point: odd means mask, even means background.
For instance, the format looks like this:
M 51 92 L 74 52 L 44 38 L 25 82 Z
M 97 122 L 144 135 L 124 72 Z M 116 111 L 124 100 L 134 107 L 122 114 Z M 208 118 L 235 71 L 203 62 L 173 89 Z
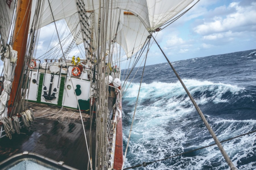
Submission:
M 135 15 L 124 15 L 123 28 L 117 33 L 116 42 L 124 49 L 127 58 L 139 51 L 149 35 Z

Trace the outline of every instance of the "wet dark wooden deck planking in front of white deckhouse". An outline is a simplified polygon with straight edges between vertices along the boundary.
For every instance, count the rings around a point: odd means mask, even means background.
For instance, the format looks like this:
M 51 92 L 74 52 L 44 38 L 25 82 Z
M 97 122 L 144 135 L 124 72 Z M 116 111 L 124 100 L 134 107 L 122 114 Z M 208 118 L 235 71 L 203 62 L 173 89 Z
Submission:
M 28 129 L 21 129 L 21 133 L 24 134 L 13 134 L 11 140 L 8 137 L 1 138 L 0 161 L 14 154 L 28 151 L 56 161 L 64 161 L 66 165 L 77 169 L 85 169 L 85 167 L 87 169 L 88 154 L 79 112 L 67 108 L 59 112 L 61 108 L 30 102 L 28 108 L 35 109 L 35 117 L 56 114 L 42 117 L 44 119 L 37 118 Z M 82 113 L 82 116 L 84 126 L 90 126 L 90 115 Z M 55 121 L 59 119 L 62 124 Z M 89 141 L 89 130 L 85 130 L 87 141 Z M 94 136 L 95 129 L 92 128 L 92 148 L 95 148 L 96 143 Z M 95 158 L 95 153 L 92 153 L 92 158 Z

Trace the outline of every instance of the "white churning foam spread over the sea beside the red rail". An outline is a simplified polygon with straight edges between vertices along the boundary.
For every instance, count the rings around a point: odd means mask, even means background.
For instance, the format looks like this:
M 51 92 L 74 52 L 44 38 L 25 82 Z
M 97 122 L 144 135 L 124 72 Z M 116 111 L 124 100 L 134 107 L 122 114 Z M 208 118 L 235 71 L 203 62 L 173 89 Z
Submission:
M 210 81 L 194 79 L 183 79 L 183 81 L 192 95 L 199 93 L 196 98 L 199 105 L 205 105 L 208 102 L 229 102 L 222 98 L 225 93 L 239 95 L 244 90 L 236 85 Z M 131 83 L 123 98 L 124 103 L 134 106 L 138 90 L 139 83 Z M 193 105 L 179 82 L 143 83 L 129 143 L 127 154 L 129 159 L 125 166 L 128 167 L 133 162 L 142 163 L 143 161 L 162 159 L 166 156 L 212 144 L 213 139 L 210 138 L 206 127 L 199 127 L 199 125 L 203 125 L 199 116 L 191 115 L 193 111 Z M 124 117 L 126 116 L 132 117 L 133 110 L 125 112 Z M 212 122 L 211 126 L 220 140 L 246 133 L 251 130 L 251 127 L 256 126 L 255 120 L 237 121 L 214 116 L 206 117 L 209 122 Z M 130 124 L 131 122 L 123 128 L 125 141 L 127 141 Z M 254 135 L 244 136 L 224 142 L 223 146 L 234 164 L 238 165 L 240 159 L 248 157 L 248 154 L 255 149 L 254 140 Z M 205 148 L 197 153 L 193 157 L 182 156 L 170 159 L 168 164 L 164 162 L 154 163 L 148 165 L 146 169 L 203 169 L 205 166 L 211 166 L 211 163 L 216 162 L 216 160 L 219 163 L 216 165 L 216 169 L 227 168 L 225 160 L 216 146 Z M 251 169 L 251 167 L 252 163 L 249 163 L 240 168 Z

